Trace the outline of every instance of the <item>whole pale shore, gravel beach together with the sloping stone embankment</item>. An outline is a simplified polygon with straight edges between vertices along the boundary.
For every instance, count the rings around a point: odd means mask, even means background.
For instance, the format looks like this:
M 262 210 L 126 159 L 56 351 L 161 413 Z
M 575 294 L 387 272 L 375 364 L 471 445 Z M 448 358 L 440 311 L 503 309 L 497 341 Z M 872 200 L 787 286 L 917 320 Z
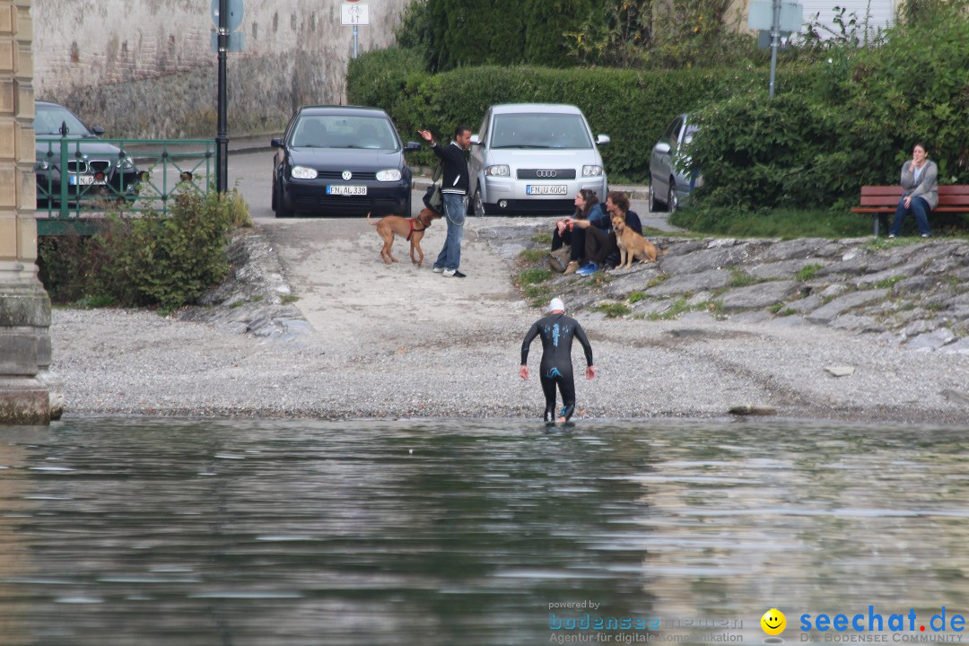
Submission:
M 513 281 L 550 227 L 469 220 L 470 277 L 447 280 L 379 262 L 365 223 L 260 226 L 204 305 L 56 310 L 66 415 L 540 415 L 537 382 L 516 375 L 540 312 Z M 969 423 L 966 243 L 650 237 L 656 264 L 530 292 L 562 296 L 593 342 L 600 377 L 578 384 L 580 417 Z

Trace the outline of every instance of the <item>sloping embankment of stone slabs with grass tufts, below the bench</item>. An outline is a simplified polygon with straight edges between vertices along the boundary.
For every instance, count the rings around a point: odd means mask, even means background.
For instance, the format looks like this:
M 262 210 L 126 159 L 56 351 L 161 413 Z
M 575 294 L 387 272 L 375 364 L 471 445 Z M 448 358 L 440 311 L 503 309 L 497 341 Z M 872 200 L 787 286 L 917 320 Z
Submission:
M 508 233 L 495 242 L 517 247 Z M 656 263 L 547 285 L 573 308 L 632 319 L 685 312 L 828 325 L 908 350 L 969 354 L 969 242 L 650 236 Z M 536 244 L 525 248 L 535 248 Z M 539 263 L 536 266 L 544 266 Z

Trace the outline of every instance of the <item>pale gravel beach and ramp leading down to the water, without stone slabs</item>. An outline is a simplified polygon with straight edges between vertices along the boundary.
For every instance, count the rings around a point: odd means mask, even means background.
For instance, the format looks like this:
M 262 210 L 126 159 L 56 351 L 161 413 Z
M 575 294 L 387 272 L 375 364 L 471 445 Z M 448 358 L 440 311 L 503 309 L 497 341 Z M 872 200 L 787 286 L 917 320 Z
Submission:
M 542 312 L 513 277 L 516 249 L 546 228 L 550 221 L 470 218 L 461 261 L 468 278 L 456 279 L 430 269 L 443 224 L 424 237 L 418 268 L 401 239 L 393 249 L 400 262 L 380 261 L 380 240 L 365 221 L 261 223 L 234 280 L 206 307 L 168 318 L 56 309 L 51 373 L 63 385 L 64 415 L 540 417 L 539 342 L 532 378 L 523 382 L 517 369 L 521 339 Z M 799 316 L 575 315 L 599 370 L 592 382 L 577 370 L 578 417 L 734 409 L 969 423 L 969 356 L 961 352 L 917 352 L 888 334 Z M 584 367 L 578 345 L 573 356 Z

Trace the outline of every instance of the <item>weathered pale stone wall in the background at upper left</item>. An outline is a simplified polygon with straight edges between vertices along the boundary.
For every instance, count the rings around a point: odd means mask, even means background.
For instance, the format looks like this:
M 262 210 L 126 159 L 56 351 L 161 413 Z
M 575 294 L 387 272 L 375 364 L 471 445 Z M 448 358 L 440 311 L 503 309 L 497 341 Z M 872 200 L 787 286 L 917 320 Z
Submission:
M 369 0 L 359 51 L 391 45 L 411 0 Z M 295 109 L 345 100 L 353 28 L 344 0 L 244 0 L 228 60 L 229 135 L 281 130 Z M 215 137 L 217 58 L 205 0 L 34 0 L 38 99 L 108 137 Z

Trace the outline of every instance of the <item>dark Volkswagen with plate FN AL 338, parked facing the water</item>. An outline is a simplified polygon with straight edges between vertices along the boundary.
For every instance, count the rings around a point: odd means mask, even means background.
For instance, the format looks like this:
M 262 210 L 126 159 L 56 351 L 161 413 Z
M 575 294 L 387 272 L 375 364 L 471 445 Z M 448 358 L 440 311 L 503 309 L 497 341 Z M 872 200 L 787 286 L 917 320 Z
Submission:
M 276 217 L 411 215 L 411 169 L 391 117 L 379 108 L 306 106 L 290 119 L 276 148 L 272 210 Z

